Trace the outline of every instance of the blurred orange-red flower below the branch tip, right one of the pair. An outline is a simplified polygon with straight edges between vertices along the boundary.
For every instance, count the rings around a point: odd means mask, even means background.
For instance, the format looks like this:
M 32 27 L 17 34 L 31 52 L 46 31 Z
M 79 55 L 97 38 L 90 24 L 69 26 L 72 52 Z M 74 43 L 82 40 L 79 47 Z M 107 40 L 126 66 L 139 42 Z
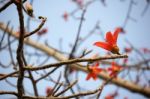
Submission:
M 121 66 L 118 66 L 115 62 L 112 62 L 112 65 L 110 68 L 108 68 L 108 71 L 110 71 L 110 77 L 117 77 L 117 73 L 122 70 Z

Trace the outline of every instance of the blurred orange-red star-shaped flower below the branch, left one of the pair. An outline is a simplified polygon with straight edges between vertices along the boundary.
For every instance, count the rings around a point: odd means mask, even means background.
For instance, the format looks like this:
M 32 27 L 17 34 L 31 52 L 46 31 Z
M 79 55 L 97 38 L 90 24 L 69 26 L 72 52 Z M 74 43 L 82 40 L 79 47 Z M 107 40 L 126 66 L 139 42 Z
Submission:
M 86 77 L 86 80 L 93 78 L 94 80 L 97 79 L 97 75 L 102 71 L 101 68 L 98 68 L 99 62 L 96 62 L 94 65 L 89 67 L 89 74 Z

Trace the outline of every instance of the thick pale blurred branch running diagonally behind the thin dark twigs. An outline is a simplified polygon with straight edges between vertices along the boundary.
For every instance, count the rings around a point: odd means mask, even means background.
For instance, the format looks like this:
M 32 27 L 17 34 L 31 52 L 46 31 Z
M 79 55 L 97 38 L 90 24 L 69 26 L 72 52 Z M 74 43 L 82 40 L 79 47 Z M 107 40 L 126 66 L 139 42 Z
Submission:
M 3 31 L 6 29 L 6 25 L 0 23 L 0 29 L 2 29 Z M 11 32 L 10 29 L 8 28 L 7 33 L 11 34 L 12 36 L 16 37 L 17 38 L 17 35 L 15 34 L 15 32 Z M 40 51 L 46 53 L 47 55 L 49 56 L 53 56 L 55 59 L 59 60 L 59 61 L 65 61 L 67 60 L 67 57 L 65 57 L 63 54 L 61 54 L 59 51 L 57 51 L 56 49 L 52 48 L 52 47 L 47 47 L 41 43 L 38 43 L 36 41 L 33 41 L 31 39 L 28 39 L 28 40 L 25 40 L 24 41 L 27 45 L 30 45 L 36 49 L 39 49 Z M 77 70 L 80 70 L 80 71 L 83 71 L 83 72 L 88 72 L 88 70 L 86 68 L 84 68 L 83 66 L 81 66 L 81 64 L 72 64 L 71 65 L 73 68 L 77 69 Z M 101 72 L 99 74 L 99 78 L 102 78 L 104 80 L 107 80 L 107 79 L 110 79 L 109 75 L 107 75 L 106 73 L 104 72 Z M 135 83 L 132 83 L 132 82 L 129 82 L 127 80 L 123 80 L 121 78 L 117 78 L 117 79 L 113 79 L 112 80 L 112 83 L 120 86 L 120 87 L 123 87 L 125 89 L 128 89 L 132 92 L 135 92 L 135 93 L 139 93 L 141 95 L 144 95 L 144 96 L 147 96 L 147 97 L 150 97 L 150 88 L 146 87 L 146 88 L 143 88 Z

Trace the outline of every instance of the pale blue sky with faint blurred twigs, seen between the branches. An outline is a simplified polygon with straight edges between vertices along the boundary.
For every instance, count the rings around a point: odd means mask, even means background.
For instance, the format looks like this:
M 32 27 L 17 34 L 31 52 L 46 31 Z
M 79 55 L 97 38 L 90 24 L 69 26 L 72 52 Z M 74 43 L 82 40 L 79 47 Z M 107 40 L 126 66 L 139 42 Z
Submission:
M 3 2 L 2 2 L 3 1 Z M 0 6 L 2 7 L 9 0 L 1 0 Z M 149 0 L 27 0 L 33 6 L 34 18 L 29 18 L 24 13 L 25 30 L 32 31 L 40 24 L 38 16 L 47 17 L 47 21 L 43 26 L 46 29 L 46 33 L 42 35 L 34 34 L 30 38 L 52 46 L 66 53 L 66 56 L 71 52 L 72 46 L 75 42 L 81 15 L 83 9 L 86 9 L 84 21 L 81 27 L 80 33 L 80 45 L 78 46 L 75 56 L 79 57 L 83 50 L 92 50 L 92 52 L 86 55 L 86 58 L 91 57 L 94 54 L 106 55 L 107 51 L 93 46 L 96 41 L 104 41 L 105 34 L 108 31 L 114 32 L 117 27 L 123 29 L 123 32 L 119 34 L 118 46 L 121 53 L 127 53 L 126 48 L 133 50 L 128 53 L 128 64 L 136 64 L 144 59 L 150 59 L 150 1 Z M 30 20 L 30 22 L 28 22 Z M 12 4 L 4 11 L 0 12 L 0 22 L 7 24 L 10 22 L 9 27 L 13 27 L 14 31 L 19 31 L 19 20 L 16 6 Z M 0 31 L 0 38 L 3 35 L 3 31 Z M 83 40 L 86 38 L 85 40 Z M 11 37 L 11 40 L 14 38 Z M 82 41 L 83 40 L 83 41 Z M 4 38 L 2 46 L 7 43 L 7 37 Z M 11 44 L 13 50 L 13 57 L 15 59 L 15 51 L 17 49 L 17 41 Z M 8 48 L 6 48 L 8 49 Z M 137 51 L 138 50 L 138 51 Z M 28 64 L 39 65 L 44 60 L 43 64 L 57 62 L 52 57 L 44 55 L 42 52 L 34 49 L 28 45 L 25 45 L 25 52 L 39 53 L 40 57 L 26 55 Z M 140 54 L 139 54 L 140 53 Z M 11 60 L 8 50 L 0 50 L 0 63 L 1 65 L 9 65 Z M 14 60 L 16 62 L 16 60 Z M 123 59 L 116 59 L 120 64 L 123 64 Z M 101 65 L 100 65 L 101 66 Z M 13 71 L 13 66 L 9 68 L 0 67 L 0 73 L 10 73 Z M 45 70 L 45 72 L 51 69 Z M 144 72 L 144 74 L 142 73 Z M 50 77 L 57 80 L 58 76 L 62 75 L 61 81 L 64 81 L 64 66 L 57 69 Z M 39 78 L 44 71 L 33 72 L 35 78 Z M 123 76 L 127 74 L 127 76 Z M 149 87 L 150 77 L 148 76 L 149 70 L 125 70 L 119 74 L 119 77 L 136 82 L 141 86 Z M 140 75 L 140 76 L 139 76 Z M 82 90 L 93 90 L 102 84 L 101 79 L 94 81 L 90 79 L 86 81 L 87 74 L 83 72 L 74 71 L 68 75 L 70 81 L 73 81 L 78 76 L 78 85 Z M 6 80 L 0 81 L 0 90 L 16 90 L 16 78 L 7 78 Z M 25 90 L 27 94 L 33 94 L 33 88 L 31 81 L 24 79 Z M 39 95 L 46 95 L 46 88 L 48 86 L 53 87 L 54 82 L 50 80 L 41 80 L 37 83 Z M 74 88 L 78 92 L 77 88 Z M 105 99 L 109 94 L 117 93 L 114 99 L 147 99 L 146 97 L 132 93 L 127 89 L 118 87 L 114 84 L 108 84 L 104 87 L 100 99 Z M 71 94 L 70 91 L 66 93 Z M 12 99 L 12 95 L 0 95 L 1 99 Z M 85 99 L 90 99 L 91 96 L 86 96 Z M 110 98 L 111 99 L 111 98 Z

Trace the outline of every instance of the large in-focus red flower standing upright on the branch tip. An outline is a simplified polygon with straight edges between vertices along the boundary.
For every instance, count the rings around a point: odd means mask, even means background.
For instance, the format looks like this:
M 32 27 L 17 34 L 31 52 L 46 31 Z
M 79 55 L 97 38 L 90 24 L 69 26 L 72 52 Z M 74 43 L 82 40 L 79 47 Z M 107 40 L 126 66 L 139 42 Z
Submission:
M 117 46 L 117 38 L 118 34 L 121 32 L 120 28 L 117 28 L 112 34 L 111 32 L 106 33 L 106 42 L 95 42 L 94 45 L 101 47 L 105 50 L 111 51 L 114 54 L 120 54 L 119 53 L 119 48 Z

